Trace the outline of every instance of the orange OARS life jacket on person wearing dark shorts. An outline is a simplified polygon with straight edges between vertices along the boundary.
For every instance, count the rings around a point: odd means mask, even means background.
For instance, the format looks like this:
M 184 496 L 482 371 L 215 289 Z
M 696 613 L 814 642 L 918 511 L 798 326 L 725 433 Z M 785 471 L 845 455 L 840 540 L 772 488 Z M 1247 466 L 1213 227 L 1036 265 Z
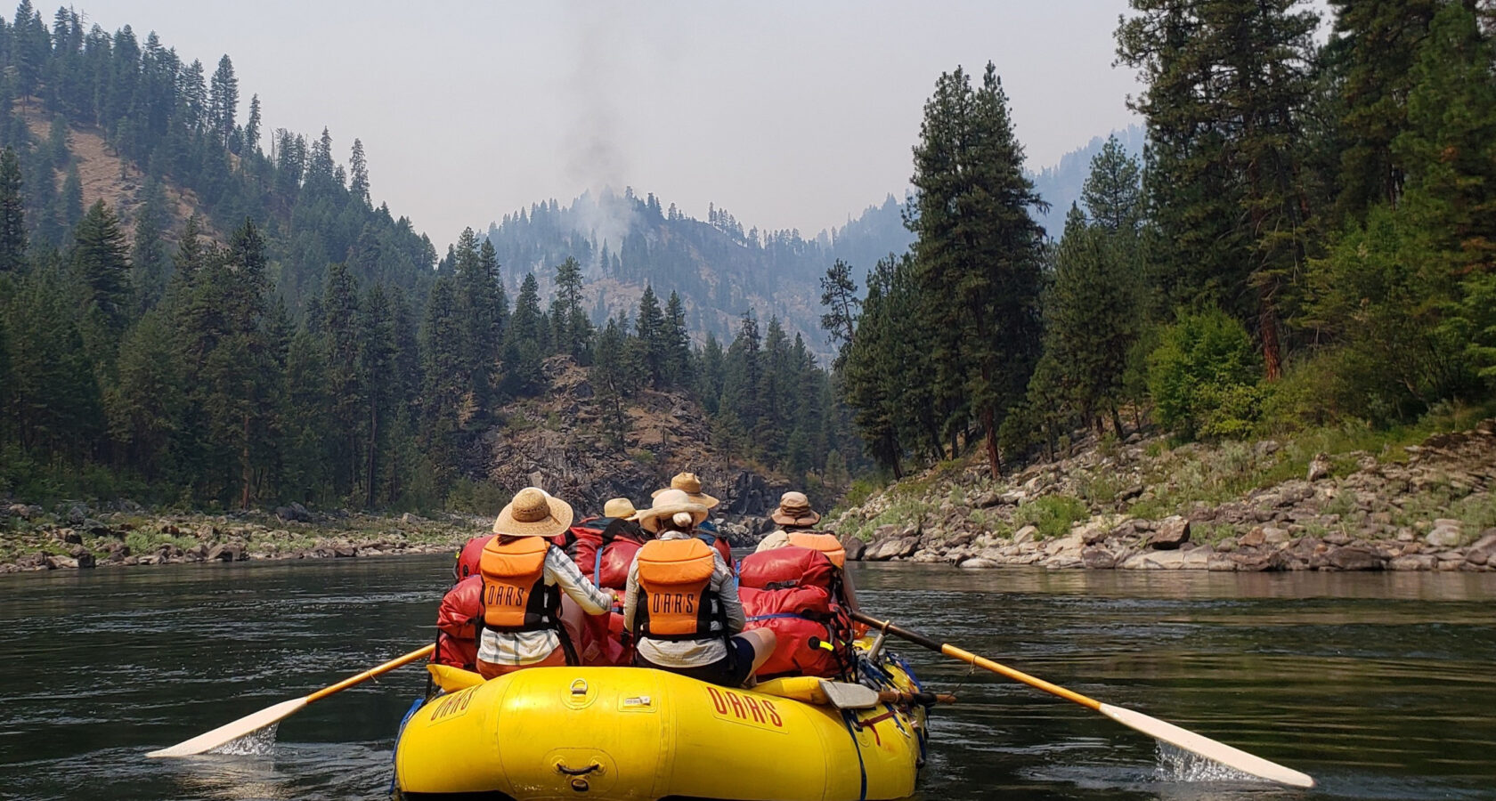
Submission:
M 639 548 L 639 635 L 649 640 L 726 638 L 727 616 L 712 571 L 717 551 L 700 539 L 654 539 Z

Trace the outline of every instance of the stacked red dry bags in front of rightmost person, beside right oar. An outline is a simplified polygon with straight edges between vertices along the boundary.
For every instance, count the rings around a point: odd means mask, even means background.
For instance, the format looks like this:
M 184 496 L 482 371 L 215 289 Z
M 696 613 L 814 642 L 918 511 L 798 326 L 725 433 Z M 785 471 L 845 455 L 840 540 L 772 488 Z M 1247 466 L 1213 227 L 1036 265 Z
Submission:
M 776 637 L 757 675 L 847 672 L 851 622 L 841 601 L 841 571 L 824 551 L 788 545 L 754 553 L 744 557 L 738 580 L 747 628 Z

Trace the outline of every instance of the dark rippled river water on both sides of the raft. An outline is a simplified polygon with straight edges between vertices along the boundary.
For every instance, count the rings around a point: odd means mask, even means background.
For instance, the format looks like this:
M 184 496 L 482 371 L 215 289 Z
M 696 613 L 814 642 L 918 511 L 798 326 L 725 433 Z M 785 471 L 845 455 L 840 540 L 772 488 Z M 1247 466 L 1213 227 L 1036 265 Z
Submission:
M 380 800 L 423 671 L 284 720 L 260 756 L 145 752 L 419 647 L 446 557 L 0 577 L 0 798 Z M 1496 800 L 1496 574 L 859 565 L 863 605 L 1303 770 L 1221 780 L 1089 710 L 914 650 L 936 710 L 919 798 Z

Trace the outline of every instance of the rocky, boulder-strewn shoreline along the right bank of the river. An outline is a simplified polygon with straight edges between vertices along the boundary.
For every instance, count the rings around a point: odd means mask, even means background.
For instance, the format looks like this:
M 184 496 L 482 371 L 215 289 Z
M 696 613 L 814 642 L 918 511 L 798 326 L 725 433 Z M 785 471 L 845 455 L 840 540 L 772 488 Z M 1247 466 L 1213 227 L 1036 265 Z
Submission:
M 923 489 L 890 487 L 842 513 L 832 529 L 856 559 L 972 569 L 1496 569 L 1496 420 L 1394 453 L 1316 453 L 1303 478 L 1173 508 L 1189 495 L 1180 483 L 1191 475 L 1203 475 L 1209 489 L 1212 475 L 1254 475 L 1290 460 L 1273 441 L 1153 456 L 1161 439 L 1134 438 L 1115 453 L 1103 450 L 1001 484 L 975 469 L 926 475 Z M 1236 472 L 1212 474 L 1221 462 Z M 1086 492 L 1101 480 L 1109 492 Z M 1026 510 L 1071 502 L 1083 513 L 1062 534 L 1046 538 L 1041 525 L 1025 523 L 1034 517 Z M 898 516 L 908 520 L 875 525 Z

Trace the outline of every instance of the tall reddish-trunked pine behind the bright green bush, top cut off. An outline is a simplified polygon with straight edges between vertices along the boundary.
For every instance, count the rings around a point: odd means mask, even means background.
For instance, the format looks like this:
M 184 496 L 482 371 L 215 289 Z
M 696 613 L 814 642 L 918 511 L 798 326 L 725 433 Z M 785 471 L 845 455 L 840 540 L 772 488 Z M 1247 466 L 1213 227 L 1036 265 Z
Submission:
M 1318 16 L 1300 0 L 1132 0 L 1122 63 L 1147 90 L 1147 191 L 1171 305 L 1221 305 L 1282 372 L 1281 308 L 1305 266 L 1303 112 Z

